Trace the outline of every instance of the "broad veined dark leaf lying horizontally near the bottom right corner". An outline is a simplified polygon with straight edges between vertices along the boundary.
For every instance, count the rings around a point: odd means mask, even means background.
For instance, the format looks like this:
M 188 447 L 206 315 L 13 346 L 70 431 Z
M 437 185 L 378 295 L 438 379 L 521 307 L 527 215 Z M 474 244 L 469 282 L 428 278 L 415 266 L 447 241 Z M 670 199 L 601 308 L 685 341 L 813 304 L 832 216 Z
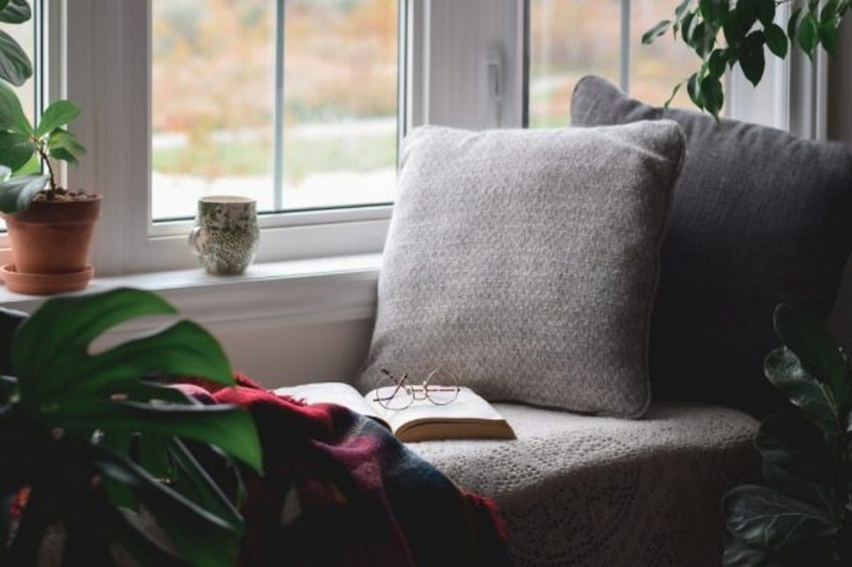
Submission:
M 822 510 L 772 488 L 734 488 L 724 497 L 724 507 L 733 536 L 758 548 L 781 550 L 838 531 Z

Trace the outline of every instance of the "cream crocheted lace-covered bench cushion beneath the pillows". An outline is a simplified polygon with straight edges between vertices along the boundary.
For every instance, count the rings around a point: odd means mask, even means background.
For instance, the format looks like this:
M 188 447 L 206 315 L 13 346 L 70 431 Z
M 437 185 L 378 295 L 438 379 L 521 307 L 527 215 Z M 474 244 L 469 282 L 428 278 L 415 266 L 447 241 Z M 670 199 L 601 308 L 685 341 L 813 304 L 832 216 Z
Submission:
M 655 402 L 641 421 L 495 407 L 517 440 L 409 447 L 495 499 L 519 566 L 720 564 L 722 496 L 760 475 L 753 418 L 687 403 Z

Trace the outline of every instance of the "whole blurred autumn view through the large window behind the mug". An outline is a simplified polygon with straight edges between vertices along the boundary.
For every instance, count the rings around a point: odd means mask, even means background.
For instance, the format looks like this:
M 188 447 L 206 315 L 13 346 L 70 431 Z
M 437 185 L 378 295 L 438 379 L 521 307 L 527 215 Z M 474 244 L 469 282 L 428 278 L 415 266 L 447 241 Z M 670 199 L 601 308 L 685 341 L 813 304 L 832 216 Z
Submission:
M 152 217 L 392 201 L 398 0 L 153 0 Z

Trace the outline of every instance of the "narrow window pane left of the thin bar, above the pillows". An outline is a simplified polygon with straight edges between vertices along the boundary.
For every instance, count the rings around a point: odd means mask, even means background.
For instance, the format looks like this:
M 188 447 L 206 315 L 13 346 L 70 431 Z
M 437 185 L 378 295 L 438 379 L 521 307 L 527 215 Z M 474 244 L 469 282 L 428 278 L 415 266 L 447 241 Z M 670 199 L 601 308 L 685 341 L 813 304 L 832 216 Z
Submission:
M 566 126 L 589 73 L 618 82 L 621 0 L 530 0 L 530 126 Z

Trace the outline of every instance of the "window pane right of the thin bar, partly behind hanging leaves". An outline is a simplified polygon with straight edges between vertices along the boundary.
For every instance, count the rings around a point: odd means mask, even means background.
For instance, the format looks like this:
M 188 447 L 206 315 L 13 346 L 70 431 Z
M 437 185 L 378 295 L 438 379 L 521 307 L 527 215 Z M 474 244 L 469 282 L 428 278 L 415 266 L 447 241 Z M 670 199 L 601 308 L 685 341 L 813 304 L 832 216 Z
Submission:
M 632 0 L 631 3 L 631 96 L 649 104 L 662 106 L 671 90 L 701 66 L 701 60 L 671 32 L 651 45 L 642 45 L 642 34 L 662 19 L 670 19 L 674 11 L 670 0 Z M 694 108 L 681 88 L 672 106 Z

